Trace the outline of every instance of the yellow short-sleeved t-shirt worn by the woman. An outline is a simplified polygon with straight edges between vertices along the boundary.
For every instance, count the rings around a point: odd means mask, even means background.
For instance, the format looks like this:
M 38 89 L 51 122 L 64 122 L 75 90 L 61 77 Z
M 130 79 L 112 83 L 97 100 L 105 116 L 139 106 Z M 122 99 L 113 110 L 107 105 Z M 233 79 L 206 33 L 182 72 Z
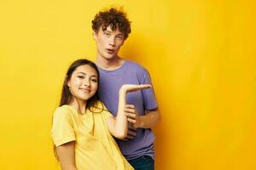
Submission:
M 98 102 L 98 107 L 102 104 Z M 55 110 L 51 136 L 55 146 L 75 141 L 75 164 L 78 170 L 132 170 L 118 145 L 108 132 L 108 111 L 86 110 L 79 114 L 73 107 L 62 105 Z M 97 113 L 98 112 L 98 113 Z

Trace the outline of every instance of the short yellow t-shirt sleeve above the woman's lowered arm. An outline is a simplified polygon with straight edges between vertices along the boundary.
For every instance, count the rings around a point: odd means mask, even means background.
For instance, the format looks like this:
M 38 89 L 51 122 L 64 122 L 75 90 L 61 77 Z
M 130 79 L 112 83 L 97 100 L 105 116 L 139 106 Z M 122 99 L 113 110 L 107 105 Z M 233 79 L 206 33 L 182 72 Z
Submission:
M 67 108 L 58 108 L 53 116 L 51 137 L 55 146 L 66 144 L 75 140 L 73 121 Z

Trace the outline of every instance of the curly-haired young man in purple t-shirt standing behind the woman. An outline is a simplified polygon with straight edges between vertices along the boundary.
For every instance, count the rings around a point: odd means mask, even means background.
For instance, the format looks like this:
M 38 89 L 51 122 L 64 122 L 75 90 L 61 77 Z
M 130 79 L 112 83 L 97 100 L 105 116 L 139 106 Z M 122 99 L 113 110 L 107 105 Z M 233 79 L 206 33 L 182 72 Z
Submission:
M 92 20 L 96 65 L 100 71 L 99 98 L 114 116 L 123 84 L 152 84 L 146 69 L 118 56 L 119 48 L 131 32 L 130 23 L 125 13 L 115 8 L 99 12 Z M 154 169 L 154 134 L 150 128 L 160 121 L 154 89 L 127 94 L 126 101 L 135 105 L 136 112 L 126 115 L 131 126 L 126 139 L 117 139 L 119 148 L 135 169 Z

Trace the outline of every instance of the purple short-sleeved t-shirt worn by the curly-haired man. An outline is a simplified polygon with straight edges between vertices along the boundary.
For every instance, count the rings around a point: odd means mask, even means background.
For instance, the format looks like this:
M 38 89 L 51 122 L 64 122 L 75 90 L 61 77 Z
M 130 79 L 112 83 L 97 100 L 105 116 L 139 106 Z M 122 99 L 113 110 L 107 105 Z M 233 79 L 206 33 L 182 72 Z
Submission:
M 125 60 L 123 65 L 113 71 L 106 71 L 99 67 L 98 69 L 100 71 L 99 98 L 113 116 L 116 116 L 118 111 L 119 88 L 123 84 L 152 84 L 148 71 L 132 61 Z M 139 115 L 145 115 L 145 110 L 158 107 L 153 88 L 127 94 L 126 104 L 135 105 Z M 128 141 L 116 139 L 122 154 L 127 160 L 139 156 L 154 158 L 154 134 L 151 129 L 137 128 L 136 133 L 137 136 Z

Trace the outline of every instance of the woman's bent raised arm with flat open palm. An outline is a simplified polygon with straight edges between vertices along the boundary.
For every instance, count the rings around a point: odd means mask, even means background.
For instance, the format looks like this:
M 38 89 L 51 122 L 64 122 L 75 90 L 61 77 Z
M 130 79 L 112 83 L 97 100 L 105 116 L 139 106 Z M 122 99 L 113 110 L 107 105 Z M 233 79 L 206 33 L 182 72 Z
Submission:
M 126 94 L 128 92 L 134 92 L 143 88 L 150 88 L 150 84 L 125 84 L 119 89 L 119 107 L 117 116 L 109 117 L 107 119 L 107 126 L 109 132 L 118 139 L 125 139 L 128 131 L 128 122 L 125 114 L 136 113 L 134 105 L 125 105 Z

